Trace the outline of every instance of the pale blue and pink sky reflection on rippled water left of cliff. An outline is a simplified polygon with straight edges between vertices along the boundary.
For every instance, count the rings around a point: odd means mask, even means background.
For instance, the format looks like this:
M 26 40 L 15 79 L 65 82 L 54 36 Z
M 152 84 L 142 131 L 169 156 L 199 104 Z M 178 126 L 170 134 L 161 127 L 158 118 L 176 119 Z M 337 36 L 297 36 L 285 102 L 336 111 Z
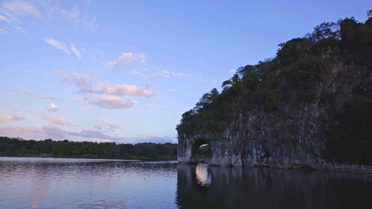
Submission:
M 177 164 L 0 157 L 0 208 L 176 208 Z

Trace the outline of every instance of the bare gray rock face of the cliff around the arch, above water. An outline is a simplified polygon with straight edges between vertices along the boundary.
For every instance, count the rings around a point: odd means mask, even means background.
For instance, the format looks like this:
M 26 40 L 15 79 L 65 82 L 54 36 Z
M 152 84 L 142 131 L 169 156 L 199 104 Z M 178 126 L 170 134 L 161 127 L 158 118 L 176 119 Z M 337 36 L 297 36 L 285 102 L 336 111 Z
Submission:
M 337 123 L 325 111 L 326 102 L 320 95 L 343 91 L 337 97 L 336 106 L 342 107 L 350 98 L 352 86 L 337 80 L 337 75 L 346 66 L 334 65 L 328 80 L 318 88 L 318 99 L 299 111 L 289 111 L 283 116 L 264 113 L 261 109 L 235 112 L 230 128 L 220 133 L 196 130 L 192 134 L 178 136 L 178 158 L 180 163 L 197 163 L 196 150 L 203 144 L 211 148 L 209 165 L 220 166 L 268 166 L 273 168 L 311 167 L 328 170 L 332 165 L 323 160 L 326 140 L 321 128 Z M 239 127 L 238 130 L 232 127 Z

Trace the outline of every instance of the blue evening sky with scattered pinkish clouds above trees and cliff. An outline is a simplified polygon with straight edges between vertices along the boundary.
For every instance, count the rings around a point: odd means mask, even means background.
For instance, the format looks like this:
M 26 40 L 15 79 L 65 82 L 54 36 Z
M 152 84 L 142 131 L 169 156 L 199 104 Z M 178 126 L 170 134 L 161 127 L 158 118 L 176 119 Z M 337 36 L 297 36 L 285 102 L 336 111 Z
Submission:
M 0 0 L 0 136 L 177 142 L 238 67 L 371 1 Z

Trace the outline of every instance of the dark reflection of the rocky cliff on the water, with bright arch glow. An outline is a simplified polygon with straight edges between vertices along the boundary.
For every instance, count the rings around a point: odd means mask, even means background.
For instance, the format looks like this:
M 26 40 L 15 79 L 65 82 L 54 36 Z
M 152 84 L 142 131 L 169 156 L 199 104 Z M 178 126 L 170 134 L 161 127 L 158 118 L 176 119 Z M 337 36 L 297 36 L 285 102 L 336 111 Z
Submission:
M 369 208 L 372 175 L 179 164 L 179 208 Z

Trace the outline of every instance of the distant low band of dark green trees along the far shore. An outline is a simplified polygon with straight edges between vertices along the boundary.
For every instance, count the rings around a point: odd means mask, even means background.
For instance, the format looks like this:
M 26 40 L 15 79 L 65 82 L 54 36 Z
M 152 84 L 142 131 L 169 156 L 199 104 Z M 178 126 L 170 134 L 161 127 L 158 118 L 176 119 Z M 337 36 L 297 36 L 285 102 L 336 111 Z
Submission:
M 51 156 L 109 159 L 174 158 L 177 144 L 138 143 L 116 144 L 115 142 L 74 142 L 24 140 L 0 136 L 0 156 Z

